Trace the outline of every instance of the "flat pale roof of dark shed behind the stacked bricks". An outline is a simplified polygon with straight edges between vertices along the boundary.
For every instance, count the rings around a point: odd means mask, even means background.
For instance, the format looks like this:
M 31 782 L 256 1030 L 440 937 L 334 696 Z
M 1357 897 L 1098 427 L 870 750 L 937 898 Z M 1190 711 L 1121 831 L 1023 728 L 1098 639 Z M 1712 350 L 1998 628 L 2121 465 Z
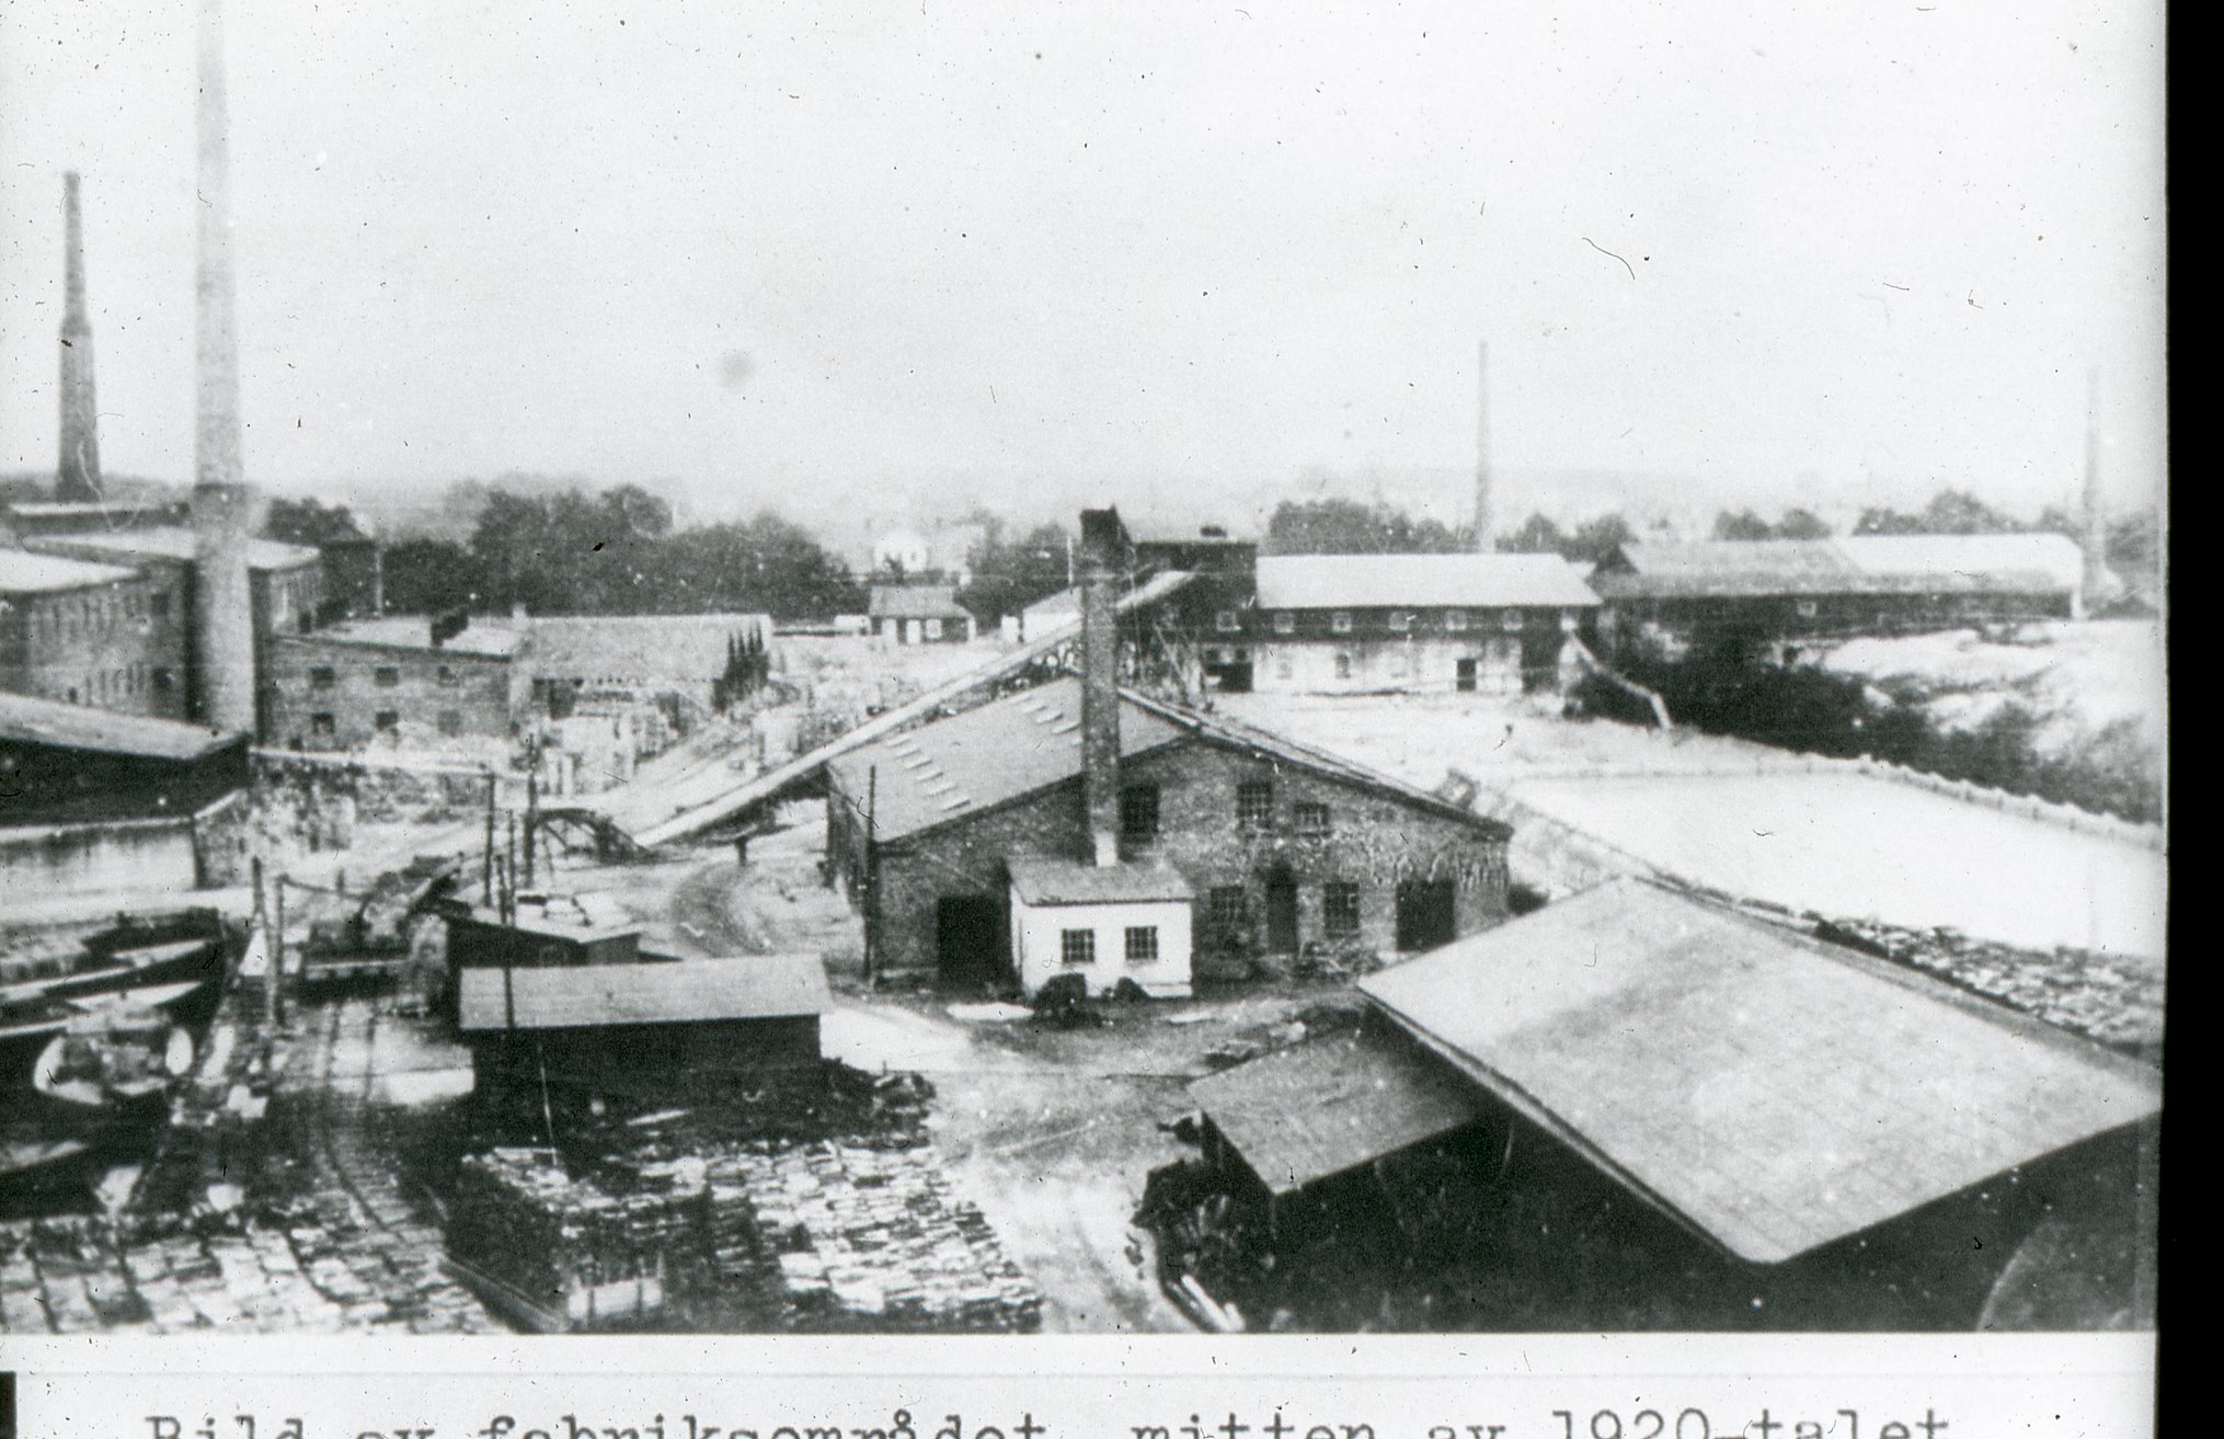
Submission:
M 458 1028 L 583 1030 L 823 1014 L 816 954 L 458 970 Z

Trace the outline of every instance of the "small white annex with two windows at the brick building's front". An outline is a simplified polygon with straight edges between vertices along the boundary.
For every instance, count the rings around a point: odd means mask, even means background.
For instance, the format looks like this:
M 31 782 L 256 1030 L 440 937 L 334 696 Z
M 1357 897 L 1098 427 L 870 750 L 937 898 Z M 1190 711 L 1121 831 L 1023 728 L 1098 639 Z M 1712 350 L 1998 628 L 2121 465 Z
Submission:
M 1152 999 L 1190 994 L 1194 892 L 1163 861 L 1088 865 L 1012 859 L 1012 961 L 1034 994 L 1081 974 L 1090 994 L 1132 979 Z

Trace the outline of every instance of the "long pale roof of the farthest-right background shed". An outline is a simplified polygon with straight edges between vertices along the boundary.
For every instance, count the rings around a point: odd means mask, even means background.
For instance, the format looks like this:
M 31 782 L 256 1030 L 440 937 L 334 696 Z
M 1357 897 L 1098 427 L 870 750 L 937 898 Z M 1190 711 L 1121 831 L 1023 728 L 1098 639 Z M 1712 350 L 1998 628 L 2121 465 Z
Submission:
M 2062 534 L 1864 534 L 1835 540 L 1630 543 L 1592 572 L 1608 598 L 1768 594 L 2068 594 L 2084 574 Z

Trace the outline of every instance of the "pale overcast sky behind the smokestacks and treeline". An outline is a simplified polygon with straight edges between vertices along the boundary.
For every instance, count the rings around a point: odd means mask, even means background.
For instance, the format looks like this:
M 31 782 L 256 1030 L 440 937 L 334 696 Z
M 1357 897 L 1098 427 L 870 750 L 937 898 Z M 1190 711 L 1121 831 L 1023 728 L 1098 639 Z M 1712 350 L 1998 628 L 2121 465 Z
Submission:
M 1481 338 L 1510 472 L 2037 509 L 2095 365 L 2164 472 L 2151 0 L 227 9 L 274 492 L 1457 476 Z M 0 469 L 76 167 L 105 463 L 191 474 L 191 33 L 0 9 Z

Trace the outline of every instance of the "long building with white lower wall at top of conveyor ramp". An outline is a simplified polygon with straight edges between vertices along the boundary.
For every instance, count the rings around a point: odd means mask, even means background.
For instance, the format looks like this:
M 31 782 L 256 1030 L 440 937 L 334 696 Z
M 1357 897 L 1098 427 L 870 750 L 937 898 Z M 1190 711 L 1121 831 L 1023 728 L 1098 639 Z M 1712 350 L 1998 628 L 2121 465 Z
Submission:
M 1557 554 L 1283 554 L 1214 632 L 1263 694 L 1563 689 L 1599 596 Z

